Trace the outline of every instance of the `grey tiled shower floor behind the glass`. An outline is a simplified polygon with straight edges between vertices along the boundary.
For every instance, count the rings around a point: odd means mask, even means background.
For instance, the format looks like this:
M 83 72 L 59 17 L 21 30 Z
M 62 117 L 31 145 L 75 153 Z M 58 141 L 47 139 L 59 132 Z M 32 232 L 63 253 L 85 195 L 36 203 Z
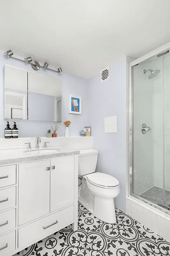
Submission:
M 146 190 L 139 196 L 154 204 L 163 203 L 163 189 L 156 186 L 153 186 L 152 188 Z M 165 190 L 165 205 L 168 207 L 168 204 L 170 204 L 170 191 Z

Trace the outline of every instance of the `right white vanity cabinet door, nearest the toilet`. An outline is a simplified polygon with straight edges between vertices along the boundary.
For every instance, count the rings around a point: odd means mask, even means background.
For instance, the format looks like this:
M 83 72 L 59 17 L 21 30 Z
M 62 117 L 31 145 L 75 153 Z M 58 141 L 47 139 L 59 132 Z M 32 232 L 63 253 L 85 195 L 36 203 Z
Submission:
M 74 156 L 52 158 L 50 171 L 50 212 L 73 203 Z

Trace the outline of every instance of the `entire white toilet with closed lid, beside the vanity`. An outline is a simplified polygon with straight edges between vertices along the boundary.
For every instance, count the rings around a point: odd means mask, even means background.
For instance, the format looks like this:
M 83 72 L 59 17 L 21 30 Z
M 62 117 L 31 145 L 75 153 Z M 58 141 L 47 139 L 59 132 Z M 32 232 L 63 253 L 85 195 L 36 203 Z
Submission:
M 115 223 L 114 198 L 120 193 L 119 181 L 111 175 L 95 172 L 97 156 L 96 149 L 80 150 L 79 175 L 82 180 L 78 200 L 98 219 Z

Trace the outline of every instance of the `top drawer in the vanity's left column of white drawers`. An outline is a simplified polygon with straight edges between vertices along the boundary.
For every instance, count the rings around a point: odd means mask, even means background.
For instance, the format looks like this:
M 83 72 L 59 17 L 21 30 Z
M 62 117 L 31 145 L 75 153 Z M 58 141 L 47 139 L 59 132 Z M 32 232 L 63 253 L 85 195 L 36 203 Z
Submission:
M 0 188 L 16 184 L 16 164 L 0 166 Z

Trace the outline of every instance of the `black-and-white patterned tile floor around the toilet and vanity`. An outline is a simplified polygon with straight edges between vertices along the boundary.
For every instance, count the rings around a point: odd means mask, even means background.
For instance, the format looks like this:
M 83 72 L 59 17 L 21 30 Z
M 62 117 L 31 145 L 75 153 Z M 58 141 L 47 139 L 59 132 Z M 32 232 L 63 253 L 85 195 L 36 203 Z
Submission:
M 116 208 L 117 222 L 105 223 L 78 204 L 78 230 L 61 229 L 15 256 L 165 256 L 170 243 Z

